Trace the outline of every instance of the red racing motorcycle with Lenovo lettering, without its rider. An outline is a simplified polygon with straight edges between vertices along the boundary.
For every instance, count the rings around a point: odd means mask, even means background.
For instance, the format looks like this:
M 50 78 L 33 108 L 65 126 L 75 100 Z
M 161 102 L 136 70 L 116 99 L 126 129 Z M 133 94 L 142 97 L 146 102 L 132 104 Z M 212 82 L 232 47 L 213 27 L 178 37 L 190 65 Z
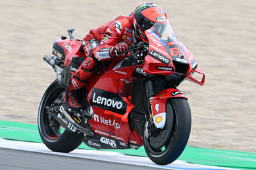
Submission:
M 54 42 L 52 55 L 44 56 L 57 74 L 38 111 L 44 144 L 60 152 L 75 150 L 82 142 L 97 149 L 144 146 L 156 164 L 176 160 L 191 130 L 188 98 L 177 86 L 184 79 L 203 85 L 205 75 L 170 23 L 154 24 L 145 31 L 148 42 L 131 45 L 121 61 L 105 63 L 90 77 L 84 98 L 92 105 L 91 119 L 88 112 L 74 112 L 63 102 L 70 77 L 84 60 L 79 57 L 83 40 L 76 40 L 73 31 L 68 30 L 70 38 Z

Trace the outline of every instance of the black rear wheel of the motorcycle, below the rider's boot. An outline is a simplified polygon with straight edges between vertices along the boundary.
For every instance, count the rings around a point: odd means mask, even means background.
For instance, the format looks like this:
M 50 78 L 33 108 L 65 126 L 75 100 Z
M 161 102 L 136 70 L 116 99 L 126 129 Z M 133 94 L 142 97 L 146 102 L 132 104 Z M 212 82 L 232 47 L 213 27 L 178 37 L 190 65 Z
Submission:
M 40 102 L 38 110 L 38 130 L 44 144 L 52 151 L 68 153 L 75 150 L 84 139 L 83 133 L 72 133 L 65 130 L 61 133 L 61 125 L 50 126 L 50 116 L 45 107 L 51 105 L 56 99 L 62 100 L 65 88 L 58 81 L 52 82 L 47 88 Z

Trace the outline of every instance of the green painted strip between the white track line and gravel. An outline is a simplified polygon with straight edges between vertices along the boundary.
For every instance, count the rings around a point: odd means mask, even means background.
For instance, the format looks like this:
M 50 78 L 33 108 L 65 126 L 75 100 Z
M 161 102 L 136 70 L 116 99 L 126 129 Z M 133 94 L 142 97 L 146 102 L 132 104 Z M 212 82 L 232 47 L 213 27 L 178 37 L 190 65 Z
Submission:
M 38 134 L 37 125 L 28 123 L 19 123 L 14 121 L 0 121 L 0 137 L 15 141 L 28 141 L 42 143 Z M 1 146 L 1 144 L 0 144 Z M 79 146 L 81 149 L 94 150 L 85 144 Z M 124 153 L 126 155 L 135 155 L 147 157 L 144 148 L 138 150 L 107 150 Z M 256 153 L 230 150 L 213 150 L 206 148 L 196 148 L 187 146 L 179 157 L 193 164 L 203 164 L 209 166 L 232 167 L 238 169 L 256 169 Z

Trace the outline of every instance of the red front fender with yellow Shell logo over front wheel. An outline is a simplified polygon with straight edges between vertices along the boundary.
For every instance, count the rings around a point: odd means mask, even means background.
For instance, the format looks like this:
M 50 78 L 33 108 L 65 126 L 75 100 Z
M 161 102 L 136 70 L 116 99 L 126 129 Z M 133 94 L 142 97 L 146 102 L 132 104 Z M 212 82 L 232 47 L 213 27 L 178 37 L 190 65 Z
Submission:
M 152 98 L 152 117 L 157 128 L 162 129 L 166 122 L 166 100 L 176 97 L 188 99 L 179 89 L 164 89 Z

